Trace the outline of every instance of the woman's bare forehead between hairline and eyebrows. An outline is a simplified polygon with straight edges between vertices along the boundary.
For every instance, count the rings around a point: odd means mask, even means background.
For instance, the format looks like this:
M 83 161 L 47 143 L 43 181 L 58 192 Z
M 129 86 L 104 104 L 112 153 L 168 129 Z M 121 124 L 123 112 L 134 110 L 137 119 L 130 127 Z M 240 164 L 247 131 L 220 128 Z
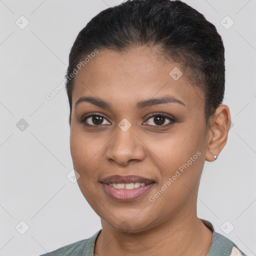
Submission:
M 121 104 L 168 94 L 185 102 L 188 108 L 204 106 L 202 93 L 189 83 L 181 65 L 164 60 L 153 48 L 99 50 L 77 71 L 73 105 L 87 95 Z

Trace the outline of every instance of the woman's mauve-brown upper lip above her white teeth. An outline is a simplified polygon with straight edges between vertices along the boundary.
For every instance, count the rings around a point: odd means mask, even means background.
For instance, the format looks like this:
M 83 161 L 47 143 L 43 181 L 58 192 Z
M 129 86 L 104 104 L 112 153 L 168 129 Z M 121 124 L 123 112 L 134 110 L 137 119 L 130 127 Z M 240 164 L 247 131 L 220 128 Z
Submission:
M 109 183 L 145 183 L 145 185 L 148 185 L 150 183 L 155 182 L 152 179 L 137 176 L 137 175 L 127 175 L 127 176 L 120 176 L 120 175 L 112 175 L 107 176 L 101 180 L 101 183 L 109 184 Z

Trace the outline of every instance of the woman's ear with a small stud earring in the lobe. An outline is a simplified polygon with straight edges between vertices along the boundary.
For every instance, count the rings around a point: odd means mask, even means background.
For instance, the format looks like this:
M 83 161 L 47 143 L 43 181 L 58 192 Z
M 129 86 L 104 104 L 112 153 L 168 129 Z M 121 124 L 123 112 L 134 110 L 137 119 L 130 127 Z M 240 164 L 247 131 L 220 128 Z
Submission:
M 218 156 L 227 141 L 231 117 L 227 105 L 219 105 L 209 118 L 209 132 L 205 160 L 213 161 Z

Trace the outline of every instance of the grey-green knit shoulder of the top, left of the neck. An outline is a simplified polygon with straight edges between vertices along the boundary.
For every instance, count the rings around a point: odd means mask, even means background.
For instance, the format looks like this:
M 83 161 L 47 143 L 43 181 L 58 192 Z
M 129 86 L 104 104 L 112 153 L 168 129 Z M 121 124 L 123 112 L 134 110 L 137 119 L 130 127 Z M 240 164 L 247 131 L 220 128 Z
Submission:
M 100 231 L 101 230 L 97 231 L 93 236 L 91 236 L 88 239 L 83 239 L 77 242 L 70 243 L 51 252 L 41 254 L 39 256 L 90 256 L 91 254 L 93 255 L 94 243 Z

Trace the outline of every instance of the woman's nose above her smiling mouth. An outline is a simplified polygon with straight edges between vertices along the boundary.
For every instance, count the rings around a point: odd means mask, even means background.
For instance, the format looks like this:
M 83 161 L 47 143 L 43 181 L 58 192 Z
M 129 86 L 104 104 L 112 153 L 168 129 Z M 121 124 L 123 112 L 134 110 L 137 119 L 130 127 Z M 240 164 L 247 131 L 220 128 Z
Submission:
M 139 135 L 135 134 L 132 126 L 123 131 L 118 126 L 116 133 L 106 148 L 106 158 L 119 165 L 127 165 L 131 161 L 142 161 L 145 158 L 143 142 Z

